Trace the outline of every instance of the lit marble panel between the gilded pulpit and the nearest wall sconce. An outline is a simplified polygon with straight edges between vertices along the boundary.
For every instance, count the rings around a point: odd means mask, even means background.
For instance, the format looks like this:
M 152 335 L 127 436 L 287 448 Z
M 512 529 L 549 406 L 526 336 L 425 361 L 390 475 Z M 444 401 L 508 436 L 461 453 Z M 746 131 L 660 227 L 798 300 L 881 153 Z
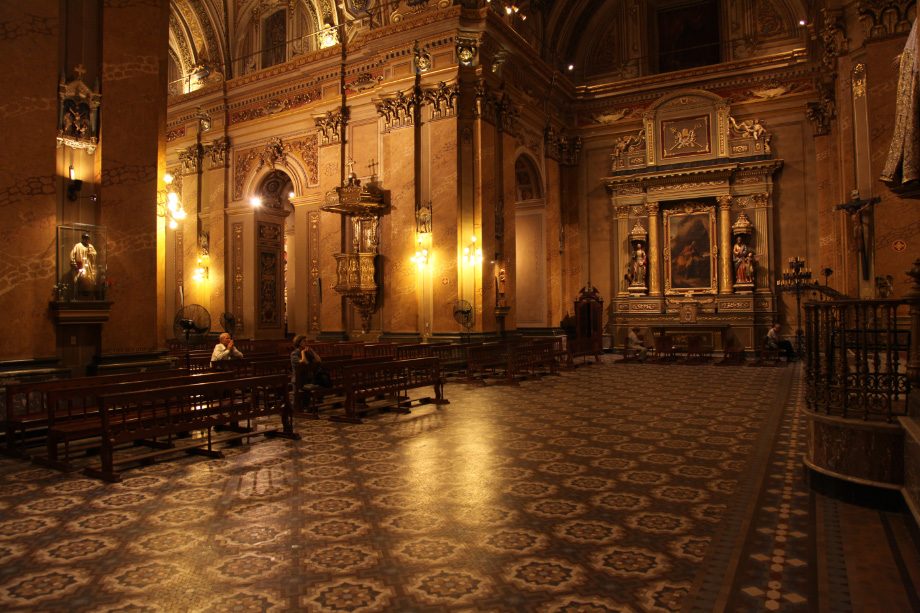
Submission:
M 380 291 L 383 330 L 417 332 L 418 267 L 410 261 L 416 251 L 415 131 L 412 127 L 391 130 L 381 138 L 384 189 L 390 193 L 390 212 L 381 220 L 378 258 L 383 273 Z

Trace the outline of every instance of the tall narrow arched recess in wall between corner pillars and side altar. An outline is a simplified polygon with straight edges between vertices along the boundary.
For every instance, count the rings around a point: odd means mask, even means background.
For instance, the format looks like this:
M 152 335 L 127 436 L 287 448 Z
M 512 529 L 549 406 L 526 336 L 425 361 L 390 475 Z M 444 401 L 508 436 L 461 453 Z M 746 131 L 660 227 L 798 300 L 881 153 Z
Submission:
M 527 155 L 514 163 L 515 304 L 518 328 L 547 326 L 546 201 L 543 177 Z

